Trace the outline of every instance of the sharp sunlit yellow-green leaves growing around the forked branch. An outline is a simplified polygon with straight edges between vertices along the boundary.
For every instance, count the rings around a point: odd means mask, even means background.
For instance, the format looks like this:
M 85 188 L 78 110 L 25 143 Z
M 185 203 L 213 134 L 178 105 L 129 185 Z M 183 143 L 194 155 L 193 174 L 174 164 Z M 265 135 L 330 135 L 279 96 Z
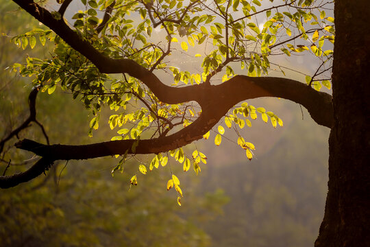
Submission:
M 70 1 L 64 1 L 59 12 L 51 12 L 53 19 L 61 21 L 64 10 Z M 264 8 L 261 1 L 86 1 L 82 0 L 82 9 L 66 19 L 77 33 L 101 55 L 110 58 L 129 59 L 140 67 L 153 71 L 173 74 L 172 86 L 210 84 L 214 76 L 221 73 L 221 81 L 233 78 L 235 64 L 240 64 L 249 76 L 267 75 L 273 67 L 271 57 L 291 56 L 295 53 L 311 53 L 322 60 L 314 75 L 306 75 L 306 83 L 319 91 L 321 83 L 330 88 L 329 80 L 322 80 L 326 64 L 330 64 L 332 50 L 323 50 L 325 40 L 334 43 L 334 19 L 325 15 L 328 2 L 315 5 L 314 1 L 282 1 L 280 5 Z M 46 8 L 50 8 L 46 4 Z M 99 19 L 98 12 L 104 12 Z M 255 17 L 265 14 L 267 21 L 259 23 Z M 263 25 L 262 25 L 263 24 Z M 57 30 L 54 30 L 58 32 Z M 158 40 L 156 35 L 164 37 Z M 312 34 L 312 36 L 310 36 Z M 302 43 L 300 40 L 304 40 Z M 49 41 L 47 41 L 49 40 Z M 14 71 L 23 76 L 32 77 L 32 84 L 40 86 L 41 91 L 52 94 L 57 88 L 69 91 L 73 99 L 80 99 L 93 116 L 90 120 L 88 135 L 99 128 L 102 106 L 114 110 L 108 124 L 117 134 L 112 141 L 134 139 L 132 154 L 125 154 L 112 172 L 123 172 L 123 164 L 136 153 L 140 139 L 165 137 L 180 126 L 188 126 L 202 114 L 202 110 L 193 102 L 166 104 L 153 93 L 153 88 L 140 82 L 136 72 L 123 73 L 121 77 L 101 73 L 94 60 L 86 59 L 84 51 L 72 48 L 68 42 L 51 30 L 36 28 L 25 34 L 14 36 L 12 41 L 25 49 L 37 47 L 47 42 L 55 48 L 50 58 L 28 57 L 25 64 L 16 63 Z M 73 41 L 72 41 L 73 42 Z M 291 44 L 294 42 L 293 44 Z M 307 45 L 301 45 L 310 43 Z M 204 54 L 195 54 L 195 45 L 204 49 Z M 82 54 L 81 54 L 82 53 Z M 201 71 L 191 73 L 177 67 L 173 59 L 177 54 L 194 56 L 201 62 Z M 167 61 L 169 60 L 169 61 Z M 279 67 L 277 65 L 277 67 Z M 279 67 L 282 69 L 281 67 Z M 330 67 L 329 67 L 330 68 Z M 284 71 L 282 71 L 284 73 Z M 326 78 L 324 78 L 326 79 Z M 143 81 L 143 80 L 141 80 Z M 321 82 L 321 83 L 320 83 Z M 220 99 L 221 100 L 221 99 Z M 262 120 L 276 127 L 282 126 L 282 120 L 274 113 L 262 107 L 255 108 L 246 102 L 232 109 L 232 114 L 225 116 L 225 125 L 234 130 L 236 126 L 251 126 L 250 119 L 256 119 L 260 113 Z M 240 117 L 241 115 L 241 117 Z M 118 129 L 118 130 L 117 130 Z M 220 145 L 225 132 L 223 126 L 214 139 Z M 209 133 L 204 138 L 208 139 Z M 253 158 L 252 143 L 238 135 L 238 145 L 246 150 L 249 160 Z M 194 152 L 201 152 L 195 147 Z M 193 154 L 194 154 L 193 152 Z M 198 174 L 201 161 L 206 163 L 206 156 L 187 155 L 182 148 L 157 154 L 148 165 L 140 164 L 138 172 L 165 166 L 170 156 L 182 163 L 188 171 L 190 163 Z M 175 174 L 171 175 L 172 178 Z M 171 179 L 169 184 L 171 184 Z M 172 179 L 173 182 L 175 180 Z M 137 185 L 137 175 L 130 180 Z M 180 204 L 182 190 L 180 181 L 174 183 Z M 171 189 L 171 186 L 167 186 Z

